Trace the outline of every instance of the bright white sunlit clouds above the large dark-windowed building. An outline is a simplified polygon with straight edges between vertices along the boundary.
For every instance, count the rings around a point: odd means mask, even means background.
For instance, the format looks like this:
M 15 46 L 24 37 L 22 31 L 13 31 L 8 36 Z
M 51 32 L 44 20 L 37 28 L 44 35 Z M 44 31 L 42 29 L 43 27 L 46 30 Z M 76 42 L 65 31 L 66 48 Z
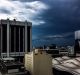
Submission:
M 33 25 L 44 24 L 45 21 L 41 19 L 36 19 L 40 14 L 44 13 L 49 6 L 41 1 L 32 2 L 20 2 L 20 1 L 0 1 L 0 19 L 14 19 L 20 21 L 31 21 Z M 6 11 L 6 12 L 5 12 Z M 8 13 L 9 12 L 9 13 Z

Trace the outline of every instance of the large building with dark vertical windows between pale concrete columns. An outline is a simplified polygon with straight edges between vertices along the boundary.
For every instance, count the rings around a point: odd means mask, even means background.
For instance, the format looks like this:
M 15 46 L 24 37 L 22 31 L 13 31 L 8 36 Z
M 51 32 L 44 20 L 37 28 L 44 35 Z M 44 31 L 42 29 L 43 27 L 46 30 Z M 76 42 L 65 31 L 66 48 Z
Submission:
M 32 23 L 14 20 L 0 20 L 1 57 L 23 58 L 32 49 Z M 20 60 L 20 59 L 19 59 Z

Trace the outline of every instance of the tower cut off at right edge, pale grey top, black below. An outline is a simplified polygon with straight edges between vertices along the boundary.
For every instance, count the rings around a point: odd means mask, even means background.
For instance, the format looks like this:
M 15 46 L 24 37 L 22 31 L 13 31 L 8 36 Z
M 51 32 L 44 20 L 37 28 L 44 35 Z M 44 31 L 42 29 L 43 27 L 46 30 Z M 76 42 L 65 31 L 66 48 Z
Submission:
M 75 52 L 80 53 L 80 30 L 75 31 Z

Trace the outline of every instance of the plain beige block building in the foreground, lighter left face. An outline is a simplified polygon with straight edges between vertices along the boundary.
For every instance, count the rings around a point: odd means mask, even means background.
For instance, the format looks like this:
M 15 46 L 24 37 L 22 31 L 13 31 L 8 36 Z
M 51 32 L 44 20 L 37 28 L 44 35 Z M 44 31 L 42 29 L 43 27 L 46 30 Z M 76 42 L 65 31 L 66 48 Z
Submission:
M 24 66 L 31 75 L 53 75 L 52 57 L 43 51 L 43 49 L 35 49 L 25 54 Z

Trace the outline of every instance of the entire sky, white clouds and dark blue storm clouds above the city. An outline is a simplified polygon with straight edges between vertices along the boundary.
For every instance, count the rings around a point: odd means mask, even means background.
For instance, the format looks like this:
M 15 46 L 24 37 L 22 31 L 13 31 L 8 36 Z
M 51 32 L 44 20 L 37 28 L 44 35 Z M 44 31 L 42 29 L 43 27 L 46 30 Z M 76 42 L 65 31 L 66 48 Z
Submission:
M 80 0 L 0 0 L 0 19 L 32 22 L 33 46 L 74 45 Z

